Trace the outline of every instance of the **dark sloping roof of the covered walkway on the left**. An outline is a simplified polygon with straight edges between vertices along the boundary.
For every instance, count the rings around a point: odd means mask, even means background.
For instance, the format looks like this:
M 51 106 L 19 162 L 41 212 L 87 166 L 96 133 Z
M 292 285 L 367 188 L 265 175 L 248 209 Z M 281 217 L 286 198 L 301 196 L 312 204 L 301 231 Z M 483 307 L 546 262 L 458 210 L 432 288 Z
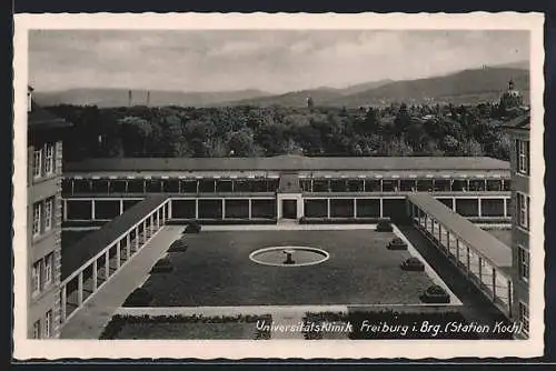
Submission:
M 87 234 L 72 247 L 63 249 L 61 279 L 64 280 L 77 271 L 88 260 L 93 258 L 106 247 L 120 238 L 133 224 L 139 222 L 147 213 L 160 205 L 167 198 L 168 195 L 165 194 L 148 197 L 121 215 L 102 225 L 100 230 Z

